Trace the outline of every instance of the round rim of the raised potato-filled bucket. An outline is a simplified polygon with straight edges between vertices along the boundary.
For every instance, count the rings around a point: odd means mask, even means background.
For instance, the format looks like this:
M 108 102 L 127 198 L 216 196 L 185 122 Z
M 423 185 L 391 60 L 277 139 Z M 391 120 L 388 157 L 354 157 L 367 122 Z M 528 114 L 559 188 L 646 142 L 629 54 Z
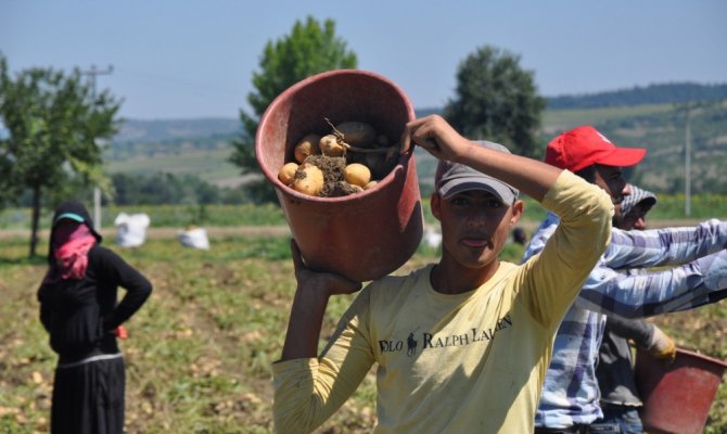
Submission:
M 381 181 L 379 181 L 379 183 L 377 186 L 374 186 L 373 188 L 371 188 L 369 190 L 364 190 L 360 193 L 348 194 L 348 195 L 345 195 L 345 196 L 336 196 L 336 197 L 320 197 L 320 196 L 311 196 L 311 195 L 308 195 L 308 194 L 301 193 L 301 192 L 285 186 L 284 183 L 282 183 L 280 181 L 280 179 L 278 179 L 278 174 L 277 173 L 272 173 L 272 170 L 269 167 L 262 164 L 262 162 L 259 159 L 260 158 L 260 156 L 259 156 L 260 155 L 260 150 L 258 149 L 258 146 L 260 146 L 260 143 L 262 143 L 262 140 L 260 140 L 260 136 L 263 135 L 263 128 L 262 127 L 263 127 L 264 122 L 267 120 L 267 118 L 270 116 L 270 114 L 273 113 L 277 110 L 278 105 L 282 104 L 282 102 L 286 98 L 289 98 L 292 94 L 295 94 L 302 88 L 304 88 L 306 86 L 309 86 L 310 82 L 319 81 L 321 79 L 326 79 L 326 78 L 329 78 L 329 77 L 343 76 L 343 75 L 367 76 L 367 77 L 374 78 L 377 80 L 380 80 L 380 81 L 386 84 L 386 86 L 391 87 L 394 90 L 394 92 L 396 92 L 401 98 L 401 100 L 404 101 L 404 105 L 405 105 L 406 111 L 407 111 L 408 119 L 412 120 L 412 119 L 416 118 L 413 104 L 411 103 L 411 100 L 409 99 L 407 93 L 404 91 L 404 89 L 399 85 L 394 82 L 393 80 L 386 78 L 385 76 L 383 76 L 379 73 L 374 73 L 372 71 L 358 69 L 358 68 L 332 69 L 332 71 L 326 71 L 326 72 L 322 72 L 322 73 L 311 75 L 310 77 L 307 77 L 307 78 L 305 78 L 301 81 L 297 81 L 296 84 L 292 85 L 291 87 L 289 87 L 288 89 L 282 91 L 278 97 L 276 97 L 272 100 L 272 102 L 268 105 L 268 107 L 263 113 L 263 116 L 260 116 L 260 122 L 258 124 L 257 131 L 255 132 L 255 143 L 254 143 L 255 159 L 257 159 L 258 166 L 260 167 L 260 170 L 263 171 L 263 175 L 281 193 L 291 195 L 291 196 L 293 196 L 295 199 L 298 199 L 298 200 L 308 201 L 308 202 L 322 202 L 322 203 L 347 202 L 347 201 L 350 201 L 350 200 L 354 200 L 354 199 L 357 199 L 357 197 L 368 196 L 370 194 L 373 194 L 375 191 L 379 191 L 383 188 L 386 188 L 386 186 L 394 182 L 394 178 L 396 177 L 398 171 L 407 170 L 409 164 L 412 163 L 413 146 L 410 150 L 408 150 L 407 152 L 405 152 L 404 154 L 399 154 L 399 161 L 397 162 L 396 166 L 394 166 L 394 168 L 388 174 L 386 174 L 386 176 L 383 179 L 381 179 Z

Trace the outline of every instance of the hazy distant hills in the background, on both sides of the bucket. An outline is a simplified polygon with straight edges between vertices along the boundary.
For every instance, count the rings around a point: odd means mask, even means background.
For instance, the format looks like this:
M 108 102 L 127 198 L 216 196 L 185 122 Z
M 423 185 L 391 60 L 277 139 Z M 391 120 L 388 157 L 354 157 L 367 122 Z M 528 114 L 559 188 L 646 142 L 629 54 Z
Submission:
M 540 130 L 543 149 L 561 131 L 592 125 L 618 145 L 647 148 L 647 158 L 636 170 L 629 170 L 629 179 L 663 193 L 684 191 L 685 186 L 686 116 L 679 104 L 713 101 L 691 113 L 692 192 L 727 191 L 723 168 L 727 162 L 727 85 L 652 85 L 547 100 Z M 424 116 L 442 108 L 416 112 Z M 190 174 L 217 186 L 235 186 L 244 178 L 228 158 L 232 152 L 230 140 L 240 129 L 237 118 L 129 119 L 104 154 L 106 168 L 112 174 Z M 432 188 L 436 161 L 417 151 L 417 173 L 426 193 Z

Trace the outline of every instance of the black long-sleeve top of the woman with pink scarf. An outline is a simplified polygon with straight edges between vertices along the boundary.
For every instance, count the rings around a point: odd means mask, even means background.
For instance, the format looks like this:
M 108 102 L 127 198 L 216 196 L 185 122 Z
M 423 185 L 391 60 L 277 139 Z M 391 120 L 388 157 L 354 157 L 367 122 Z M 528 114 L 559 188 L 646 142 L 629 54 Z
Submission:
M 38 290 L 40 321 L 61 362 L 93 352 L 118 353 L 114 330 L 146 301 L 152 284 L 114 252 L 95 244 L 80 280 L 43 283 Z M 126 295 L 117 304 L 118 286 Z

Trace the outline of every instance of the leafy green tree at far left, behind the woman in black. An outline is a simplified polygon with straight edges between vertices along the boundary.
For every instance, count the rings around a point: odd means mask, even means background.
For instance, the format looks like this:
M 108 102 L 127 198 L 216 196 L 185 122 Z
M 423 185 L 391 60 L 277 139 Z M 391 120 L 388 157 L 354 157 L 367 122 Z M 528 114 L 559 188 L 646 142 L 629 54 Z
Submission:
M 7 129 L 0 137 L 0 187 L 8 189 L 0 200 L 15 202 L 30 192 L 30 256 L 36 254 L 44 197 L 61 200 L 69 186 L 79 183 L 110 186 L 98 143 L 116 133 L 119 106 L 107 90 L 95 94 L 78 69 L 64 74 L 35 67 L 12 78 L 5 58 L 0 58 L 0 122 Z

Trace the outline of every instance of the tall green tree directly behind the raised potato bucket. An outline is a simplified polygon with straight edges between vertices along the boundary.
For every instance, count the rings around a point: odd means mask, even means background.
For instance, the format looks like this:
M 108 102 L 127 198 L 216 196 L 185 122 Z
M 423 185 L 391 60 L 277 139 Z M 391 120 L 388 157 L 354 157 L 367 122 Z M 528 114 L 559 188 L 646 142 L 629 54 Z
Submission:
M 332 69 L 355 68 L 356 54 L 346 49 L 346 42 L 335 36 L 335 23 L 326 20 L 321 26 L 308 16 L 305 23 L 295 22 L 289 36 L 268 41 L 259 62 L 260 71 L 253 74 L 256 91 L 247 94 L 254 114 L 240 111 L 242 133 L 232 141 L 234 151 L 230 161 L 242 174 L 259 174 L 255 159 L 255 132 L 260 116 L 282 91 L 313 75 Z M 251 181 L 246 192 L 254 202 L 273 202 L 272 187 L 265 180 Z

